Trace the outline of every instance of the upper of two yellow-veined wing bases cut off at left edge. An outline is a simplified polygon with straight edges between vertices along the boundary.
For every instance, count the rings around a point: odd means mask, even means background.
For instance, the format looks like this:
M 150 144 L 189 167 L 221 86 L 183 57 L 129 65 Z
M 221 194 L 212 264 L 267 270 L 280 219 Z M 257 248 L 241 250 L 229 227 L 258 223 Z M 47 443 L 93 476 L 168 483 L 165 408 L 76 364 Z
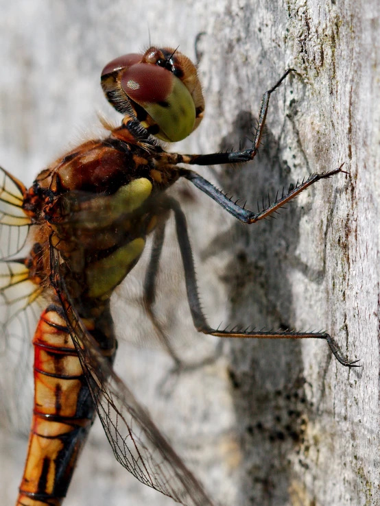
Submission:
M 23 210 L 25 186 L 0 167 L 0 258 L 19 252 L 27 239 L 31 219 Z

